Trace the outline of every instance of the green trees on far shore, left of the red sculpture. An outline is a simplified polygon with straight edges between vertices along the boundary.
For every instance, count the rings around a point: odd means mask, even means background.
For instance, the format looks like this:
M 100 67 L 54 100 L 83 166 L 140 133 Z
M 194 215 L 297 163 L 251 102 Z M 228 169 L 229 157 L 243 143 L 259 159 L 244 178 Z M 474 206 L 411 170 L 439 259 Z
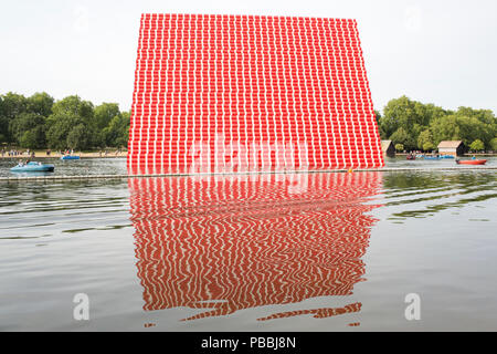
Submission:
M 129 112 L 117 103 L 95 106 L 77 95 L 55 101 L 47 93 L 0 95 L 0 144 L 29 149 L 126 147 Z

